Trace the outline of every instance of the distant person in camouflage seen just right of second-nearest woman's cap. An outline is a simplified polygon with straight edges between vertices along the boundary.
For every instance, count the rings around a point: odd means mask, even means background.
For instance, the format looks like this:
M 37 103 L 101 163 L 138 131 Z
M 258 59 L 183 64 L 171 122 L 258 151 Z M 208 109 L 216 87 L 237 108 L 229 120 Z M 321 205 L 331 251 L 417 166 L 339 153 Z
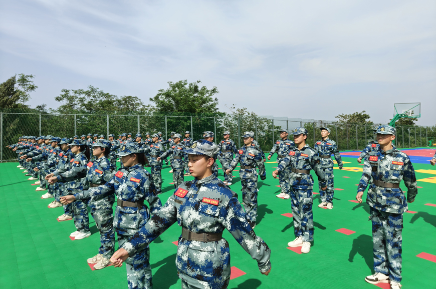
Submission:
M 144 153 L 148 155 L 148 162 L 151 166 L 151 177 L 153 178 L 154 186 L 156 187 L 156 194 L 162 193 L 162 160 L 157 160 L 164 152 L 163 145 L 159 142 L 157 134 L 152 135 L 153 143 L 143 148 Z

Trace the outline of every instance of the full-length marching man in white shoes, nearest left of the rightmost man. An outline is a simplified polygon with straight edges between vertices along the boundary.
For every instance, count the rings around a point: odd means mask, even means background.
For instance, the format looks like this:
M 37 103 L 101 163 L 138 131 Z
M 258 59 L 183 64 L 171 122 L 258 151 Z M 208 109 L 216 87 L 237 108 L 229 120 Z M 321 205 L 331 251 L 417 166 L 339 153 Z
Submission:
M 327 188 L 327 182 L 318 154 L 306 144 L 307 129 L 298 127 L 292 134 L 296 147 L 291 148 L 289 154 L 282 159 L 273 172 L 273 177 L 277 178 L 287 166 L 291 167 L 291 206 L 296 238 L 288 246 L 301 246 L 302 253 L 309 253 L 310 242 L 313 242 L 313 177 L 310 170 L 315 171 L 322 190 Z

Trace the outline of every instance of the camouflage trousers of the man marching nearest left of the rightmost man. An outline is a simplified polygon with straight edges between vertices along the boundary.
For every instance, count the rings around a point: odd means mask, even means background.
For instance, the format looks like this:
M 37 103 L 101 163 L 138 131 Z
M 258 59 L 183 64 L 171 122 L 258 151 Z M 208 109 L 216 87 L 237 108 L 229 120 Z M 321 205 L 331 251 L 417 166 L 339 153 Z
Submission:
M 303 242 L 313 241 L 313 190 L 292 188 L 291 206 L 294 220 L 294 234 L 302 236 Z

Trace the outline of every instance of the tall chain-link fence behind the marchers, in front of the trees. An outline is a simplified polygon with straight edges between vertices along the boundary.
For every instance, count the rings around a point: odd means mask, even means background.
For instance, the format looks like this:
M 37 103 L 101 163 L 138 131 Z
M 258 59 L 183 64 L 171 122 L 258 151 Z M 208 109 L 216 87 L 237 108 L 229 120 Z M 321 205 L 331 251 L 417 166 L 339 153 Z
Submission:
M 307 143 L 314 146 L 321 139 L 321 127 L 331 130 L 329 138 L 336 141 L 339 150 L 362 150 L 374 138 L 373 128 L 378 124 L 347 124 L 334 121 L 313 119 L 290 119 L 287 117 L 259 116 L 222 117 L 222 116 L 174 116 L 174 115 L 132 115 L 132 114 L 38 114 L 38 113 L 0 113 L 0 161 L 14 161 L 17 154 L 7 145 L 14 144 L 22 135 L 54 135 L 72 137 L 82 134 L 108 134 L 118 136 L 121 133 L 162 132 L 164 138 L 174 131 L 182 136 L 191 132 L 192 139 L 202 137 L 204 131 L 215 133 L 215 142 L 222 139 L 225 131 L 238 147 L 244 145 L 241 135 L 252 131 L 262 150 L 269 152 L 274 142 L 280 138 L 280 130 L 292 132 L 297 127 L 308 130 Z M 427 147 L 436 143 L 436 126 L 397 126 L 395 145 L 397 148 Z M 289 136 L 292 139 L 292 136 Z

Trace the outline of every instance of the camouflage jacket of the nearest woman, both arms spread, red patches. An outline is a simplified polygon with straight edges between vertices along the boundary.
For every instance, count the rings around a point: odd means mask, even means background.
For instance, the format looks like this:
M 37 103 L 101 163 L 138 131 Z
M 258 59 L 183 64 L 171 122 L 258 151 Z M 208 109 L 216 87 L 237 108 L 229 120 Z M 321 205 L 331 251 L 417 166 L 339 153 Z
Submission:
M 258 262 L 259 270 L 271 268 L 271 249 L 256 235 L 246 220 L 238 195 L 213 175 L 183 182 L 165 205 L 122 248 L 134 255 L 172 224 L 196 233 L 229 230 L 237 242 Z M 178 239 L 176 266 L 184 280 L 214 282 L 230 277 L 229 243 Z

